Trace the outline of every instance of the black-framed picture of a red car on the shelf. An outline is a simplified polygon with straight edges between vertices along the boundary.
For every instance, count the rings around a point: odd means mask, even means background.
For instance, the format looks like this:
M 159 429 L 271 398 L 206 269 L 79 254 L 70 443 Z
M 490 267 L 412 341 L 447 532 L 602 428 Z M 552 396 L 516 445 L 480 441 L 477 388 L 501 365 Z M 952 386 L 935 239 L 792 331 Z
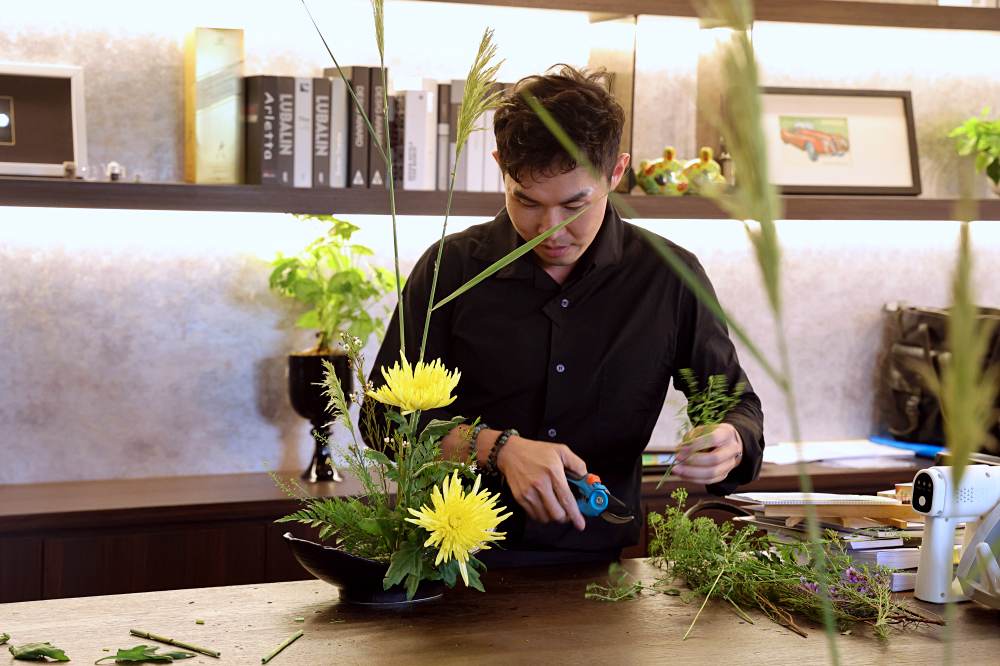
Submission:
M 903 90 L 763 88 L 771 180 L 785 194 L 920 194 Z

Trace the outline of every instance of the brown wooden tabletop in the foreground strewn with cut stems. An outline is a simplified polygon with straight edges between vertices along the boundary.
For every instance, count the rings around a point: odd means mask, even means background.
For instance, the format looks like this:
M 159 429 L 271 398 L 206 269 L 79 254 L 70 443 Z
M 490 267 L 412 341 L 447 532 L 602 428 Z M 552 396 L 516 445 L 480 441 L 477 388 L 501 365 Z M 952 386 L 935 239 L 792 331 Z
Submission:
M 655 573 L 644 560 L 625 564 L 646 580 Z M 698 603 L 662 594 L 586 601 L 586 583 L 604 574 L 603 567 L 491 571 L 486 594 L 456 588 L 405 610 L 340 603 L 336 589 L 319 581 L 29 601 L 0 606 L 0 631 L 16 644 L 53 642 L 84 664 L 106 656 L 102 648 L 150 642 L 129 636 L 129 628 L 222 653 L 184 664 L 259 664 L 298 629 L 305 635 L 273 664 L 828 663 L 822 628 L 803 622 L 809 637 L 800 638 L 756 612 L 748 624 L 721 603 L 710 603 L 681 641 Z M 299 617 L 304 621 L 296 622 Z M 960 605 L 954 640 L 957 663 L 995 665 L 1000 613 Z M 908 666 L 942 663 L 945 643 L 941 627 L 894 630 L 880 642 L 859 626 L 838 635 L 837 645 L 844 664 Z

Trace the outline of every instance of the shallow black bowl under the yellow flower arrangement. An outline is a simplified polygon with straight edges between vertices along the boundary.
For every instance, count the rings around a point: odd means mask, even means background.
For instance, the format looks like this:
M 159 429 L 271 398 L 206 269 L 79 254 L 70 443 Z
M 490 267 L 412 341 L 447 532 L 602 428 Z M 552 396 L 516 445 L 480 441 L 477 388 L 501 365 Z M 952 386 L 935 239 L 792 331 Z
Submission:
M 382 589 L 388 564 L 299 539 L 291 532 L 285 532 L 284 538 L 299 564 L 316 578 L 340 588 L 340 598 L 344 601 L 366 606 L 410 606 L 439 599 L 444 594 L 441 581 L 424 581 L 413 599 L 407 599 L 406 590 L 400 585 Z

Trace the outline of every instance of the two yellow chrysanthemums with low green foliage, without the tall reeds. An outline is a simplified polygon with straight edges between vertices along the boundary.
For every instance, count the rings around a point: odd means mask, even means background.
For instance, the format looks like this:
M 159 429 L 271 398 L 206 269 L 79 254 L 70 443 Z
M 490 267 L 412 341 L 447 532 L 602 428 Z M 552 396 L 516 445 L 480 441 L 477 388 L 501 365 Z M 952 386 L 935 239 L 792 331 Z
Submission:
M 278 522 L 299 522 L 319 528 L 321 540 L 358 557 L 388 565 L 383 586 L 403 585 L 413 598 L 422 581 L 441 580 L 449 587 L 461 575 L 465 585 L 483 590 L 477 550 L 504 538 L 497 527 L 510 514 L 498 507 L 498 495 L 481 491 L 481 479 L 469 461 L 441 458 L 441 438 L 464 422 L 430 421 L 418 432 L 420 413 L 450 404 L 459 373 L 434 361 L 410 366 L 405 360 L 384 371 L 386 385 L 372 390 L 365 380 L 360 338 L 344 337 L 344 347 L 365 390 L 345 396 L 327 364 L 324 381 L 328 411 L 351 435 L 347 447 L 351 475 L 360 481 L 361 497 L 315 498 L 300 486 L 275 479 L 303 507 Z M 389 407 L 385 423 L 365 396 Z M 382 437 L 380 449 L 366 448 L 358 439 L 349 408 L 362 409 L 369 432 Z M 395 407 L 395 409 L 392 409 Z M 471 482 L 471 490 L 463 488 Z

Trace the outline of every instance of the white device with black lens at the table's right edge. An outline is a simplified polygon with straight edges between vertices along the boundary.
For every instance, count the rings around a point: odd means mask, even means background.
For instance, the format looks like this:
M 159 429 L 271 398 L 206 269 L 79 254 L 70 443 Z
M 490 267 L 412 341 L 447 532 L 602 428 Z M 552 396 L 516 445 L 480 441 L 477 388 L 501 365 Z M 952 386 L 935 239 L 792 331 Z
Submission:
M 951 467 L 920 470 L 913 477 L 911 503 L 927 516 L 913 595 L 939 604 L 974 598 L 1000 608 L 1000 467 L 969 465 L 958 487 Z M 965 523 L 965 538 L 954 572 L 959 523 Z

